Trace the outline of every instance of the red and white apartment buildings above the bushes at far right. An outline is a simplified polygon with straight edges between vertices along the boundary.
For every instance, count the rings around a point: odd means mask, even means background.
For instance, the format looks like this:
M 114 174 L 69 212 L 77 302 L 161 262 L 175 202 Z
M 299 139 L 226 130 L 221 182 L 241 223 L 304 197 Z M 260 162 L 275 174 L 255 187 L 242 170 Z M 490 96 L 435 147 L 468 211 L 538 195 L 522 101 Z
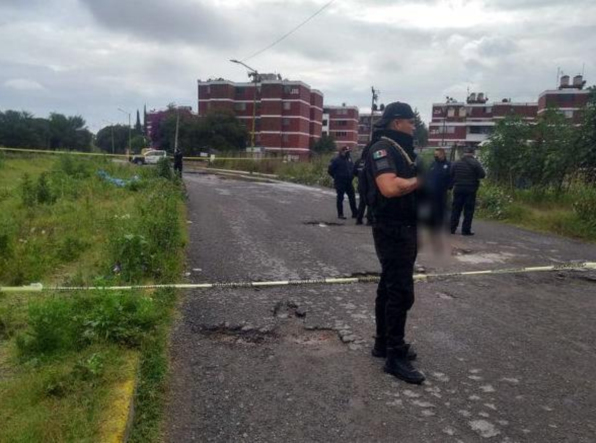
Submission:
M 499 119 L 517 114 L 533 122 L 547 107 L 555 107 L 579 123 L 581 109 L 588 103 L 589 96 L 584 85 L 581 75 L 575 76 L 572 84 L 569 76 L 562 76 L 558 89 L 542 92 L 538 102 L 533 103 L 514 103 L 508 99 L 489 103 L 482 92 L 471 93 L 465 103 L 452 99 L 433 103 L 429 147 L 476 147 L 491 135 Z

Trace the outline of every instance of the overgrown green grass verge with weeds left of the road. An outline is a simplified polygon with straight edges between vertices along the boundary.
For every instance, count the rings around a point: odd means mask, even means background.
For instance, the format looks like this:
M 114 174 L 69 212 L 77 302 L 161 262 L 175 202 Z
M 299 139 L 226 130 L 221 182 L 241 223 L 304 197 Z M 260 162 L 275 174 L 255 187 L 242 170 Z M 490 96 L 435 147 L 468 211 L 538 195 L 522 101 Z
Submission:
M 178 281 L 184 221 L 167 163 L 2 156 L 0 286 Z M 0 293 L 0 442 L 105 441 L 136 361 L 131 439 L 157 441 L 175 301 L 173 290 Z

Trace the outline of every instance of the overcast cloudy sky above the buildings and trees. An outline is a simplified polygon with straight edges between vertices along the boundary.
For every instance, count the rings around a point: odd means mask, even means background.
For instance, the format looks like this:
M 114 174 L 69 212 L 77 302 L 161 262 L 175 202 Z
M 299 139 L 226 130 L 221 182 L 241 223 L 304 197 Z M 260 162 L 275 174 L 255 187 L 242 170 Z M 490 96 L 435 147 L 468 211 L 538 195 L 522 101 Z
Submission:
M 168 103 L 196 109 L 196 81 L 246 81 L 229 58 L 274 42 L 328 0 L 0 0 L 0 110 L 81 114 L 97 131 Z M 594 0 L 336 0 L 246 60 L 302 80 L 326 104 L 431 104 L 468 88 L 536 101 L 557 68 L 596 83 Z

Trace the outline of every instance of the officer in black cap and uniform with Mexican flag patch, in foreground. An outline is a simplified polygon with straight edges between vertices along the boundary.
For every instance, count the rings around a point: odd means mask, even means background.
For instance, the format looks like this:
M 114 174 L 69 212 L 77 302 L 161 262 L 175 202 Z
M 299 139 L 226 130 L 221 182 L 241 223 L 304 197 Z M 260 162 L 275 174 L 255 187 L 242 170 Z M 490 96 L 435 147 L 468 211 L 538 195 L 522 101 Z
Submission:
M 412 366 L 416 354 L 405 341 L 408 310 L 414 304 L 419 181 L 414 154 L 414 112 L 406 103 L 391 103 L 375 123 L 367 157 L 367 187 L 373 211 L 373 237 L 381 263 L 375 319 L 375 357 L 386 357 L 384 370 L 408 383 L 424 375 Z

